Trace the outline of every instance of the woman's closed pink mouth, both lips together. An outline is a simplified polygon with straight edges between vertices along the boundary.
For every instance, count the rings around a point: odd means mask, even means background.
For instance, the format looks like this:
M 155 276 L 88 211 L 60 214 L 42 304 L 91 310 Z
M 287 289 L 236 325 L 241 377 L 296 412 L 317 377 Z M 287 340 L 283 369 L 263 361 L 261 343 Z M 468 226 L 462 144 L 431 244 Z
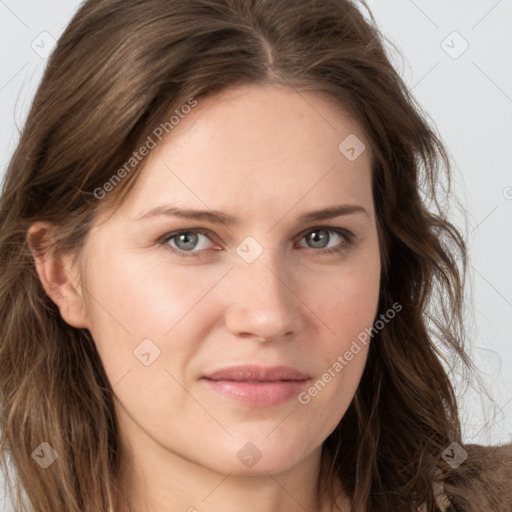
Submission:
M 297 396 L 309 380 L 309 375 L 288 366 L 256 365 L 225 368 L 201 379 L 216 393 L 253 407 L 284 403 Z

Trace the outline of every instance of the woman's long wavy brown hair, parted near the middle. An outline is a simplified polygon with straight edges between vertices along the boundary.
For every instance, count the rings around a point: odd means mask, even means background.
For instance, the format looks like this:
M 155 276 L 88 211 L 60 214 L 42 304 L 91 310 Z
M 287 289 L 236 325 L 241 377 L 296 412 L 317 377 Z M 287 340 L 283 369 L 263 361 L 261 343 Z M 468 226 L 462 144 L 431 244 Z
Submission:
M 241 84 L 327 96 L 359 121 L 373 154 L 379 315 L 395 303 L 402 309 L 374 336 L 354 400 L 324 443 L 319 491 L 330 492 L 338 476 L 353 512 L 437 510 L 433 482 L 450 469 L 441 454 L 462 444 L 444 363 L 470 367 L 466 248 L 439 200 L 439 184 L 450 183 L 447 151 L 366 9 L 367 18 L 349 0 L 89 0 L 75 14 L 0 202 L 2 463 L 8 472 L 10 459 L 16 495 L 31 510 L 107 512 L 120 447 L 94 340 L 45 294 L 27 230 L 51 222 L 55 243 L 45 250 L 79 250 L 98 212 L 133 187 L 144 160 L 126 162 L 155 128 L 191 99 Z M 99 197 L 107 182 L 112 190 Z M 58 454 L 46 469 L 32 455 L 42 442 Z

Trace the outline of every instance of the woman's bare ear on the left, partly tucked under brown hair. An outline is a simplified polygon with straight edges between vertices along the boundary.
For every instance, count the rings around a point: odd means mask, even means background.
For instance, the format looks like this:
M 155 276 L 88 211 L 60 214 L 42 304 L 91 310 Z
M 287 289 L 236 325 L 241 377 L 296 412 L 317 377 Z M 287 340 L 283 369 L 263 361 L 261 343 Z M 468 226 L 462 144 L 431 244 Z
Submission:
M 76 258 L 72 254 L 55 255 L 48 250 L 53 242 L 53 232 L 54 226 L 42 221 L 35 222 L 27 231 L 27 242 L 34 255 L 39 279 L 66 323 L 89 328 Z

